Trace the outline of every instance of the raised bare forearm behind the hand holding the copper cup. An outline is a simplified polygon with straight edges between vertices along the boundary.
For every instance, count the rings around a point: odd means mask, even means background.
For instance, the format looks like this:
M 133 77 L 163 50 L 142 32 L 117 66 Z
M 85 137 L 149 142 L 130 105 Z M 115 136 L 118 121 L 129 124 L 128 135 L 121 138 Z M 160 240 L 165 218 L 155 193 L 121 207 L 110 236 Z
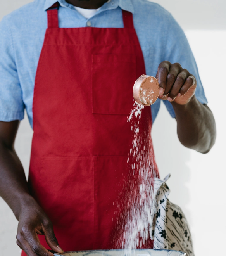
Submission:
M 201 153 L 209 152 L 216 139 L 216 125 L 209 107 L 201 104 L 195 96 L 185 105 L 171 103 L 181 144 Z

